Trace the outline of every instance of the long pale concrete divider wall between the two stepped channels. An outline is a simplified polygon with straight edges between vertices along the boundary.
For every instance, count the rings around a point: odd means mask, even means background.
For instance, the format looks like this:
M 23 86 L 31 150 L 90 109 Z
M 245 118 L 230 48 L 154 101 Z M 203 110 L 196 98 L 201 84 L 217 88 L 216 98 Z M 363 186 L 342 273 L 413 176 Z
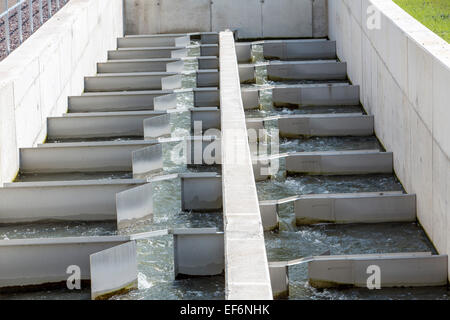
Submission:
M 225 295 L 272 299 L 233 33 L 220 33 Z

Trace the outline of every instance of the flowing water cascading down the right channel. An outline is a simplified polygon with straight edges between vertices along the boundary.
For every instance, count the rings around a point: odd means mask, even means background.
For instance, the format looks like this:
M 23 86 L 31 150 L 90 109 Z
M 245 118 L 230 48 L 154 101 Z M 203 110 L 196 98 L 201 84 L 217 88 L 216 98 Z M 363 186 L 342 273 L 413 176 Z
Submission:
M 262 46 L 253 45 L 254 63 L 265 63 Z M 261 107 L 246 111 L 247 118 L 261 118 L 280 114 L 365 113 L 360 106 L 275 108 L 270 87 L 291 82 L 267 80 L 265 66 L 256 68 L 256 84 L 261 91 Z M 307 82 L 303 82 L 307 83 Z M 309 82 L 308 84 L 311 85 Z M 266 122 L 267 129 L 277 129 L 276 121 Z M 270 144 L 270 132 L 268 144 Z M 265 149 L 265 146 L 262 148 Z M 279 139 L 279 152 L 312 152 L 343 150 L 380 150 L 384 148 L 372 137 L 314 137 Z M 261 153 L 261 152 L 259 152 Z M 272 179 L 257 182 L 259 200 L 278 200 L 290 196 L 323 193 L 354 193 L 372 191 L 403 191 L 395 175 L 355 176 L 286 176 L 284 160 Z M 286 261 L 321 255 L 423 252 L 435 250 L 422 227 L 417 223 L 383 224 L 320 224 L 296 226 L 293 203 L 279 206 L 280 228 L 266 232 L 265 242 L 269 261 Z M 448 299 L 446 287 L 317 290 L 308 284 L 307 265 L 289 267 L 289 299 Z

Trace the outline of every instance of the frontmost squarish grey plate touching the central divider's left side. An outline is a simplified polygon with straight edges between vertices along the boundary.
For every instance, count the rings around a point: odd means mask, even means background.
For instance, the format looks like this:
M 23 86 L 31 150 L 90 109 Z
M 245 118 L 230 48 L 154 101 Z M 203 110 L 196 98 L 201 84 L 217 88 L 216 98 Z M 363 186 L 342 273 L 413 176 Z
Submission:
M 221 275 L 225 269 L 224 234 L 216 229 L 175 229 L 175 278 Z

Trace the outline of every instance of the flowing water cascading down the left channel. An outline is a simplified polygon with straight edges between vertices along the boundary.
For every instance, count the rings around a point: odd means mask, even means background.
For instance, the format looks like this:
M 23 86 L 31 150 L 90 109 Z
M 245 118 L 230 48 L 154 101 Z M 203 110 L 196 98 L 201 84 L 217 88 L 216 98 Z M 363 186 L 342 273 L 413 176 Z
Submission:
M 195 44 L 195 43 L 194 43 Z M 190 56 L 198 56 L 199 50 L 192 49 Z M 197 69 L 196 60 L 185 62 L 185 70 Z M 195 86 L 195 74 L 184 76 L 183 88 Z M 190 132 L 190 115 L 187 108 L 193 106 L 192 92 L 178 94 L 178 108 L 184 112 L 172 114 L 172 136 L 185 136 Z M 142 139 L 142 138 L 141 138 Z M 55 142 L 55 141 L 52 141 Z M 163 172 L 158 175 L 201 171 L 217 171 L 215 167 L 188 168 L 173 157 L 177 143 L 163 145 Z M 69 174 L 69 175 L 21 175 L 17 181 L 117 179 L 130 178 L 130 173 L 111 174 Z M 167 228 L 223 229 L 222 212 L 192 213 L 181 210 L 181 184 L 179 179 L 153 183 L 154 217 L 152 223 L 140 224 L 124 233 L 140 233 Z M 42 223 L 0 226 L 0 239 L 45 238 L 70 236 L 115 235 L 115 223 Z M 224 277 L 206 277 L 174 280 L 172 236 L 166 235 L 137 242 L 139 290 L 115 296 L 112 299 L 223 299 Z M 44 290 L 31 293 L 0 295 L 0 299 L 90 299 L 90 289 L 81 291 Z

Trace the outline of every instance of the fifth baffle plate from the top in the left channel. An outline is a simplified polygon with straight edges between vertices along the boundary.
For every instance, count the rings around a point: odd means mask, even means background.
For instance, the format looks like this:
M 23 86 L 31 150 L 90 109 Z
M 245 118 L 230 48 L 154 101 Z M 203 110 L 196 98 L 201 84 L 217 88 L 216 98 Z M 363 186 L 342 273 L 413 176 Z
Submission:
M 177 106 L 172 90 L 86 92 L 69 97 L 69 112 L 167 110 Z

